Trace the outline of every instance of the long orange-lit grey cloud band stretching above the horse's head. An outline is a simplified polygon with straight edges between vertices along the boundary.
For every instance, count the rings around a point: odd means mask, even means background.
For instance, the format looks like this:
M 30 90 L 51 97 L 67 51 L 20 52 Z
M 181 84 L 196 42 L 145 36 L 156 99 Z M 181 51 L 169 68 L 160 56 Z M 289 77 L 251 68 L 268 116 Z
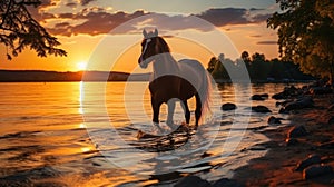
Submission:
M 80 3 L 89 3 L 94 0 L 84 0 Z M 73 6 L 73 4 L 68 4 Z M 144 12 L 143 10 L 135 11 L 132 13 L 119 11 L 109 12 L 107 8 L 100 7 L 87 7 L 79 12 L 65 12 L 55 14 L 58 20 L 63 19 L 69 24 L 55 24 L 49 28 L 49 31 L 53 35 L 101 35 L 108 33 L 117 26 L 130 21 L 135 18 L 139 18 L 146 14 L 151 17 L 140 22 L 131 22 L 132 26 L 127 27 L 127 30 L 122 32 L 136 32 L 138 28 L 143 27 L 158 27 L 166 30 L 184 30 L 184 29 L 199 29 L 202 31 L 212 30 L 213 27 L 200 27 L 191 20 L 191 17 L 196 16 L 204 19 L 216 27 L 224 27 L 230 24 L 247 24 L 263 22 L 268 18 L 267 13 L 262 13 L 262 9 L 243 9 L 243 8 L 222 8 L 222 9 L 208 9 L 198 14 L 167 14 L 156 12 Z M 261 14 L 262 13 L 262 14 Z M 51 20 L 52 17 L 48 16 Z M 70 21 L 72 20 L 72 21 Z M 62 21 L 63 22 L 63 21 Z M 76 22 L 76 23 L 75 23 Z M 80 23 L 78 23 L 80 22 Z M 137 30 L 136 30 L 137 29 Z

